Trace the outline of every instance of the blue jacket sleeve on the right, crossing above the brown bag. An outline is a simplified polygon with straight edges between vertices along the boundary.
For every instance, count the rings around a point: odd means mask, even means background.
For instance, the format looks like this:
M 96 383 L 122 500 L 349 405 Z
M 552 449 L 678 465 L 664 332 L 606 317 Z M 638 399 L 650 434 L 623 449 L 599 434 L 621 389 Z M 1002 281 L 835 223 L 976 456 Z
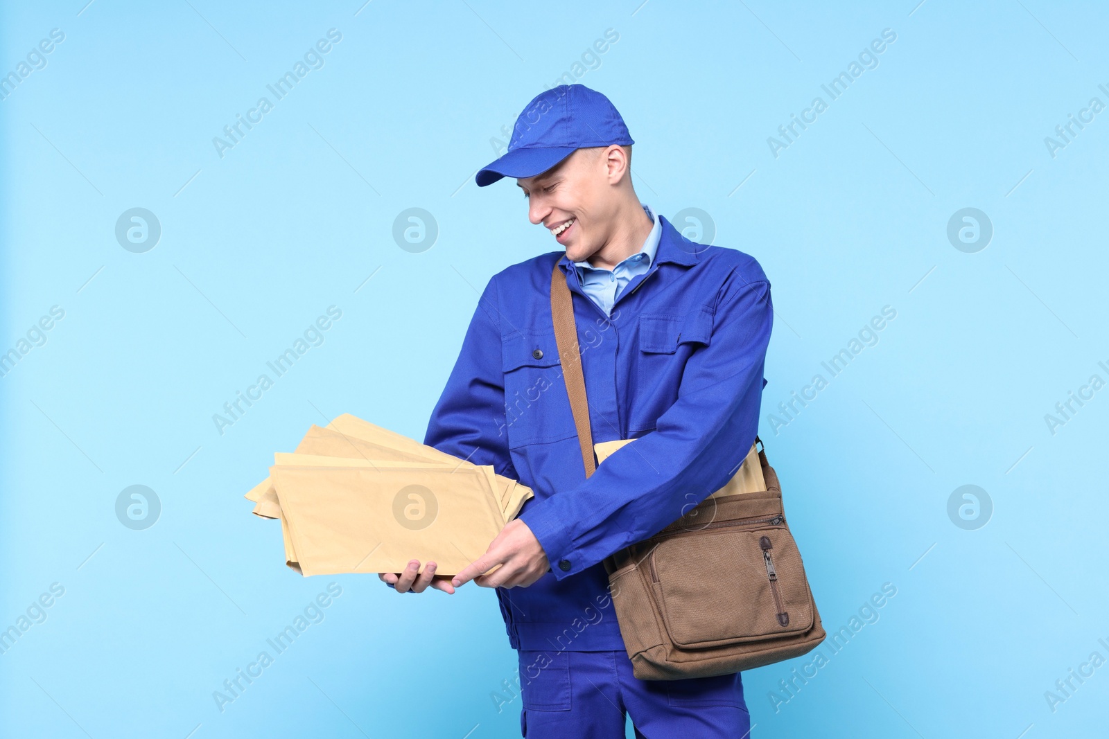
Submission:
M 735 473 L 759 429 L 773 324 L 770 283 L 733 269 L 709 343 L 690 355 L 678 400 L 655 430 L 625 444 L 572 490 L 520 515 L 559 579 L 673 523 Z

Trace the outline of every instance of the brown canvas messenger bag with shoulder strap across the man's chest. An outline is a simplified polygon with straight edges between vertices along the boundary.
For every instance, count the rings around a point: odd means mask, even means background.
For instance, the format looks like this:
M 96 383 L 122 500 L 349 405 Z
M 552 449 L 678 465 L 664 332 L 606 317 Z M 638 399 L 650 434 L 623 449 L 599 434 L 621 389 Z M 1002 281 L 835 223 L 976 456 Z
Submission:
M 597 458 L 573 304 L 558 264 L 551 315 L 588 478 Z M 757 437 L 755 442 L 762 444 Z M 604 560 L 637 678 L 728 675 L 797 657 L 824 640 L 777 474 L 765 449 L 757 454 L 765 490 L 706 497 L 658 534 Z

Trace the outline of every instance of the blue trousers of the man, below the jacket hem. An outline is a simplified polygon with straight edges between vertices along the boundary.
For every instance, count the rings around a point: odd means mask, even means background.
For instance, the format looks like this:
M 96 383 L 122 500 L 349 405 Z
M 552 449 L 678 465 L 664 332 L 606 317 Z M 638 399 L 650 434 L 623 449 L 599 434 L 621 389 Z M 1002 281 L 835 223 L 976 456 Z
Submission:
M 751 716 L 740 673 L 639 680 L 628 653 L 519 650 L 527 739 L 747 739 Z

